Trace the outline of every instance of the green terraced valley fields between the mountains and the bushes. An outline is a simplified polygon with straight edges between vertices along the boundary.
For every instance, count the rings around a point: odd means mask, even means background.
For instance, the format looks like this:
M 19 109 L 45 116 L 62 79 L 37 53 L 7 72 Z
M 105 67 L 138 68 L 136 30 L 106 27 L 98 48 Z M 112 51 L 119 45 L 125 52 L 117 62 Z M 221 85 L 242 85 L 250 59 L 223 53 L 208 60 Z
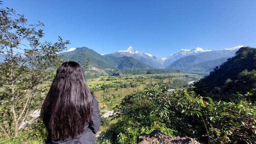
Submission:
M 172 89 L 178 89 L 188 86 L 190 81 L 199 78 L 197 74 L 188 73 L 101 76 L 87 80 L 87 84 L 99 103 L 103 105 L 113 101 L 119 102 L 125 95 L 154 84 L 166 84 Z

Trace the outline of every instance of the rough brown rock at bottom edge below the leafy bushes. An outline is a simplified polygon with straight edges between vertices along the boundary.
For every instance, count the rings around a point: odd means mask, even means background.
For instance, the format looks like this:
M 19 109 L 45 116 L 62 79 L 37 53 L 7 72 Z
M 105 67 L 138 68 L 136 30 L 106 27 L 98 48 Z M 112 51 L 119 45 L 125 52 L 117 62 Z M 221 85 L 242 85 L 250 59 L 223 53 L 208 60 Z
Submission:
M 138 144 L 200 144 L 195 139 L 184 137 L 170 137 L 160 130 L 154 130 L 150 134 L 141 134 Z

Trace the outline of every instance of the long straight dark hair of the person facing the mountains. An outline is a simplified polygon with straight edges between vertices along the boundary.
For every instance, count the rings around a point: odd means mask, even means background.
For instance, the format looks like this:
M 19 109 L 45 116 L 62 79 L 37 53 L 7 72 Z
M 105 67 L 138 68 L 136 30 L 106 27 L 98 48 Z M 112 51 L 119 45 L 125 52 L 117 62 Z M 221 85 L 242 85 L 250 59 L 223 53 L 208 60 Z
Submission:
M 62 63 L 41 109 L 41 118 L 53 140 L 76 137 L 91 121 L 92 94 L 83 68 L 76 62 Z

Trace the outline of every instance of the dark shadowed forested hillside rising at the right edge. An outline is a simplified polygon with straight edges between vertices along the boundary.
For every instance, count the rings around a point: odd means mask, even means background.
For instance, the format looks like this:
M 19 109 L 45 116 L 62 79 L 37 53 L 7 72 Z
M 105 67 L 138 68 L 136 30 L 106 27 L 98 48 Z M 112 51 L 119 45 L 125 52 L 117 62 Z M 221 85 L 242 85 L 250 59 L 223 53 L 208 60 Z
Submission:
M 215 100 L 239 100 L 240 94 L 250 92 L 249 98 L 255 99 L 256 88 L 256 49 L 240 48 L 234 57 L 229 58 L 220 67 L 216 67 L 209 76 L 196 82 L 196 92 L 211 95 Z

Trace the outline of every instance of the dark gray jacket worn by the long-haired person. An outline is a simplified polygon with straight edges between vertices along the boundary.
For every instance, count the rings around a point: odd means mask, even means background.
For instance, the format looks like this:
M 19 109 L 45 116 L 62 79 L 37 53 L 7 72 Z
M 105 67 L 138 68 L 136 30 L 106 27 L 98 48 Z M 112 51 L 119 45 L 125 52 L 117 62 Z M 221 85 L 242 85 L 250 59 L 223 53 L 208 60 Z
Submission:
M 75 138 L 68 138 L 64 140 L 52 140 L 48 135 L 46 144 L 94 144 L 95 134 L 100 128 L 101 115 L 98 106 L 98 102 L 93 96 L 93 114 L 92 121 L 85 126 L 85 132 Z

